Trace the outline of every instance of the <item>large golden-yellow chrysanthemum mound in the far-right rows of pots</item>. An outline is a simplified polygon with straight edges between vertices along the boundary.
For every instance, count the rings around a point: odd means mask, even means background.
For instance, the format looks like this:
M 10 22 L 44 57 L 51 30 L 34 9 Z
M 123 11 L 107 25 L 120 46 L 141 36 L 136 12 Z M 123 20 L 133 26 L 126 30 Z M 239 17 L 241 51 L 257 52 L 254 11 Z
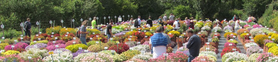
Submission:
M 254 42 L 263 45 L 264 44 L 264 40 L 268 39 L 267 35 L 256 35 L 254 37 Z

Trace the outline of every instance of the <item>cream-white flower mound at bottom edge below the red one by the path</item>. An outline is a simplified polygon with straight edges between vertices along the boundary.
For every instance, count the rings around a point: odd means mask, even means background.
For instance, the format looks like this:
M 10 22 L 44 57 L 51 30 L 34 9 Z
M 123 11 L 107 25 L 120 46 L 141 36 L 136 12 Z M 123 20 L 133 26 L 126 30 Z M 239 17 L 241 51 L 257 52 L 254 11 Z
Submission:
M 233 61 L 241 61 L 241 60 L 247 61 L 247 59 L 248 59 L 247 55 L 243 53 L 235 53 L 235 52 L 225 53 L 222 56 L 223 62 L 233 62 Z

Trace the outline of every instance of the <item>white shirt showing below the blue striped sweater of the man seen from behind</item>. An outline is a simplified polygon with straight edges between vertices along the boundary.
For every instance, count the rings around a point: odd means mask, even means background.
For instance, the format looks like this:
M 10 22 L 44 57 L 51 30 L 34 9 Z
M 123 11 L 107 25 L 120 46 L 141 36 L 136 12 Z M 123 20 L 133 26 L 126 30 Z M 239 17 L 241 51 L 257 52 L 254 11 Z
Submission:
M 152 44 L 151 39 L 150 39 L 150 44 Z M 153 58 L 157 58 L 158 56 L 166 52 L 166 46 L 155 46 L 152 49 L 153 49 Z

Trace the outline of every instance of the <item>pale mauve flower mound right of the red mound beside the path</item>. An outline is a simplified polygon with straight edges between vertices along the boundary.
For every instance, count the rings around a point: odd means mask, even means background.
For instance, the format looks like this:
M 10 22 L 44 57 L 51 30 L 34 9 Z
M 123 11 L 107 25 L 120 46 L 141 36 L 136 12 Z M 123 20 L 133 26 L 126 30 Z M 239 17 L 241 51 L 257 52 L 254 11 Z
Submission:
M 259 46 L 251 46 L 251 47 L 247 48 L 246 53 L 247 53 L 247 55 L 251 55 L 253 53 L 262 53 L 262 51 L 260 51 L 260 49 L 262 49 L 262 48 L 260 48 Z

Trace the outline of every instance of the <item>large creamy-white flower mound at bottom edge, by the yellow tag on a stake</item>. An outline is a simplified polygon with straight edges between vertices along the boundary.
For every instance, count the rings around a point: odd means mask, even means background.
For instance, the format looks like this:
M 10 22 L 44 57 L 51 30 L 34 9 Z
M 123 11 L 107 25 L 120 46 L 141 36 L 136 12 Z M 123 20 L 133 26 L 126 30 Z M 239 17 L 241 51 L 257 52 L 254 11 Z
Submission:
M 63 53 L 57 53 L 57 54 L 53 54 L 53 60 L 54 62 L 73 62 L 73 55 L 71 54 L 71 52 L 69 51 L 64 51 Z M 46 62 L 51 62 L 52 61 L 52 57 L 51 55 L 45 57 L 43 59 Z

